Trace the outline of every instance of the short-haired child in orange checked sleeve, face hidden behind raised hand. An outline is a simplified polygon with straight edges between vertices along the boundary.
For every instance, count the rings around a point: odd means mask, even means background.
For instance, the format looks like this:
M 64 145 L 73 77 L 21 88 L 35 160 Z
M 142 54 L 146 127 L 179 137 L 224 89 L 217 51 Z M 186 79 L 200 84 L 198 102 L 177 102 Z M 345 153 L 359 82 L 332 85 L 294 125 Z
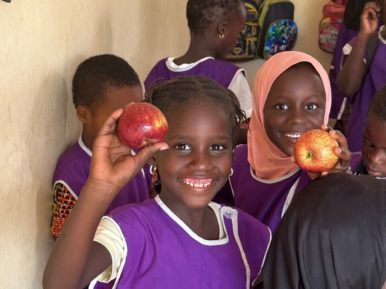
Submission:
M 68 214 L 90 173 L 91 148 L 105 119 L 128 102 L 143 99 L 134 69 L 115 55 L 97 55 L 83 61 L 73 78 L 73 102 L 83 132 L 78 141 L 58 161 L 54 173 L 54 213 L 51 233 L 58 237 Z M 134 154 L 134 152 L 133 152 Z M 149 198 L 150 175 L 142 170 L 106 208 L 107 213 L 128 203 Z

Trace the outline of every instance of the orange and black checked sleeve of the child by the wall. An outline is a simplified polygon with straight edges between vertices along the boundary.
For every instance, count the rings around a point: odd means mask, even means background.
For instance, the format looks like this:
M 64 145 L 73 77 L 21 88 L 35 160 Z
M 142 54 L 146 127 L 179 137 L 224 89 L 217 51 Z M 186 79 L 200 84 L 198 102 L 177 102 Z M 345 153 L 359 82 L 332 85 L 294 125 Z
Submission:
M 51 234 L 58 237 L 68 214 L 73 209 L 76 198 L 71 195 L 66 186 L 56 183 L 54 187 L 54 212 L 52 213 Z

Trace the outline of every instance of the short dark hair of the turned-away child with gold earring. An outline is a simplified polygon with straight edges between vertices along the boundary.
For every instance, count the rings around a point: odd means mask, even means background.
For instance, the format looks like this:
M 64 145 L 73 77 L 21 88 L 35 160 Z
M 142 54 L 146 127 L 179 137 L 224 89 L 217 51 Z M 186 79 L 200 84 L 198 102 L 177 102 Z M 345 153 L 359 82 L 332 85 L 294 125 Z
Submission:
M 240 3 L 243 2 L 241 0 L 188 0 L 186 18 L 190 31 L 194 34 L 202 34 L 219 13 L 223 16 L 239 8 Z

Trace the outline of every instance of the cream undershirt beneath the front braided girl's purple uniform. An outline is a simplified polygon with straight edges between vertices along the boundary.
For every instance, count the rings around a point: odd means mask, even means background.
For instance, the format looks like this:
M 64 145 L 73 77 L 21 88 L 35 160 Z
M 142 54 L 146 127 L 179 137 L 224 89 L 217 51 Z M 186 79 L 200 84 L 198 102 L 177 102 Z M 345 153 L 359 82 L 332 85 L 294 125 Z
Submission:
M 225 238 L 225 232 L 220 217 L 220 208 L 213 203 L 209 203 L 209 207 L 213 209 L 216 214 L 218 228 L 220 235 L 218 240 Z M 109 218 L 103 218 L 99 223 L 97 232 L 95 233 L 94 241 L 102 244 L 110 252 L 112 264 L 105 271 L 103 271 L 97 280 L 103 283 L 108 283 L 117 277 L 119 268 L 121 266 L 124 256 L 124 242 L 121 233 L 117 226 Z

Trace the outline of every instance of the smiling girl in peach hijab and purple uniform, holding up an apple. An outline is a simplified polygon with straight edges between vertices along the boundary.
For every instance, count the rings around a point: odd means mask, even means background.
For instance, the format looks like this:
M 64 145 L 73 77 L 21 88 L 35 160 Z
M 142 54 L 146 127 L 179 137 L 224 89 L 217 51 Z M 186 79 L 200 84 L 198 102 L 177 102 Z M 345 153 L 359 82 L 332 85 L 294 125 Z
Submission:
M 291 161 L 295 141 L 310 129 L 330 130 L 323 125 L 330 105 L 328 75 L 313 57 L 289 51 L 268 59 L 254 81 L 248 144 L 236 148 L 234 175 L 218 198 L 233 195 L 235 207 L 274 231 L 293 195 L 317 176 L 309 176 Z M 322 175 L 349 168 L 344 136 L 329 133 L 340 145 L 334 150 L 340 161 Z

